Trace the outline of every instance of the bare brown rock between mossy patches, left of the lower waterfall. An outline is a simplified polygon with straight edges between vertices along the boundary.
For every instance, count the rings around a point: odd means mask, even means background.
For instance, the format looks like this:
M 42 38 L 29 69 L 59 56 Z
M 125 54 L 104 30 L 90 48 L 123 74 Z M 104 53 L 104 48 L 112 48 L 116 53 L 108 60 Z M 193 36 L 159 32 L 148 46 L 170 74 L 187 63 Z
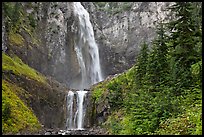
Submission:
M 3 71 L 3 79 L 18 85 L 29 93 L 20 96 L 26 105 L 32 108 L 38 120 L 46 128 L 65 128 L 67 88 L 48 78 L 47 84 L 29 79 L 23 75 Z

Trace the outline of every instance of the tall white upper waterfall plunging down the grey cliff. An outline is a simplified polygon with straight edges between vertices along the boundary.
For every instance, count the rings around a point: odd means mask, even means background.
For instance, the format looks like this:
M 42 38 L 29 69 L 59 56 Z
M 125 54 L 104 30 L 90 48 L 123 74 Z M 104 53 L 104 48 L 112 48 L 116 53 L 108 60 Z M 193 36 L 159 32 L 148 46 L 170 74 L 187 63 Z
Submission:
M 78 27 L 74 37 L 74 50 L 77 54 L 81 76 L 70 87 L 83 90 L 102 81 L 103 77 L 93 26 L 90 22 L 89 13 L 80 2 L 74 2 L 74 16 Z

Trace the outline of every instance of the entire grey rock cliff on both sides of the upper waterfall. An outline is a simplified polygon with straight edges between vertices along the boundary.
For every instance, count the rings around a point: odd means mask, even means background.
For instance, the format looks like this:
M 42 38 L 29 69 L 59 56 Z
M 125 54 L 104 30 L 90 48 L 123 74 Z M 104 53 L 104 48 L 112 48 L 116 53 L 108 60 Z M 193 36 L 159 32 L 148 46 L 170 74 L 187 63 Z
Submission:
M 115 4 L 115 5 L 113 5 Z M 83 2 L 90 14 L 104 78 L 123 72 L 135 63 L 140 43 L 155 37 L 155 25 L 168 19 L 169 2 L 117 2 L 99 7 L 97 2 Z M 126 8 L 124 5 L 126 4 Z M 37 21 L 38 43 L 31 43 L 25 31 L 24 47 L 6 45 L 4 21 L 2 25 L 2 50 L 7 48 L 39 72 L 54 77 L 69 86 L 79 76 L 80 69 L 74 49 L 74 32 L 77 29 L 73 17 L 72 2 L 32 2 L 22 5 L 28 15 Z M 106 9 L 106 10 L 101 10 Z M 111 10 L 111 12 L 109 11 Z M 117 12 L 112 12 L 118 10 Z M 29 56 L 29 58 L 28 58 Z

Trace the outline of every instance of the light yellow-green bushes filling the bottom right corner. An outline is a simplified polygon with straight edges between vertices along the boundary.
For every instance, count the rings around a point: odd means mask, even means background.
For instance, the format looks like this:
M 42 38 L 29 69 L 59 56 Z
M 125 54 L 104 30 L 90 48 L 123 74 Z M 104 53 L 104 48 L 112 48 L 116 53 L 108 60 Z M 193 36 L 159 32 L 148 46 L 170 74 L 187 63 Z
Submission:
M 202 105 L 190 107 L 177 117 L 162 121 L 154 134 L 160 135 L 201 135 L 202 134 Z

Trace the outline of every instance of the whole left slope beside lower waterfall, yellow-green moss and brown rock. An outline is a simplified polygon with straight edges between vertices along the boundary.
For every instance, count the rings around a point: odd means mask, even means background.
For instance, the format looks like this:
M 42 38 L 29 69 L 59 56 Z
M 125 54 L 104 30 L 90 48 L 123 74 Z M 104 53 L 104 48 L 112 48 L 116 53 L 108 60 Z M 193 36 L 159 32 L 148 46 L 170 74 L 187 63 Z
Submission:
M 3 134 L 37 133 L 65 127 L 66 87 L 46 78 L 13 55 L 2 54 Z

